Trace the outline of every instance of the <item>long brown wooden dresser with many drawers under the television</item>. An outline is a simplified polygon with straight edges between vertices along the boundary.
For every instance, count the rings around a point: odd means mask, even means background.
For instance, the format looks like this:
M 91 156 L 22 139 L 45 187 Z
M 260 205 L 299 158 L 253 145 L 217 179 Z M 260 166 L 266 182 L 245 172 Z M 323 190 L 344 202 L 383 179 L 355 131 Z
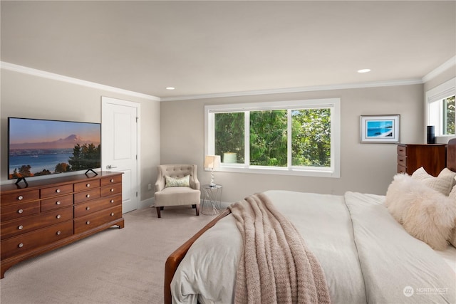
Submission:
M 8 184 L 0 193 L 1 278 L 14 264 L 117 225 L 122 173 L 99 172 Z

